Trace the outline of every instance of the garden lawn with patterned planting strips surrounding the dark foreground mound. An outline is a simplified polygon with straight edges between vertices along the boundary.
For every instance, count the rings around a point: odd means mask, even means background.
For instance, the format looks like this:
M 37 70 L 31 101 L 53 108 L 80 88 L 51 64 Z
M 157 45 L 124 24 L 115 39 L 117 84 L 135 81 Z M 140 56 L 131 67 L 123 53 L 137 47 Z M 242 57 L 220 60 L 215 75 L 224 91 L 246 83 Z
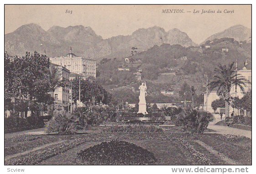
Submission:
M 240 136 L 220 134 L 193 135 L 177 133 L 177 130 L 162 132 L 108 132 L 104 127 L 94 127 L 88 133 L 75 135 L 26 135 L 26 137 L 6 138 L 5 157 L 34 148 L 40 148 L 48 143 L 60 141 L 29 154 L 18 155 L 6 160 L 5 164 L 57 164 L 75 165 L 77 153 L 81 150 L 102 143 L 119 139 L 134 143 L 152 152 L 157 159 L 153 164 L 229 164 L 221 156 L 212 153 L 197 141 L 224 155 L 236 164 L 251 164 L 251 139 Z M 175 129 L 175 128 L 174 128 Z M 64 142 L 62 142 L 64 141 Z

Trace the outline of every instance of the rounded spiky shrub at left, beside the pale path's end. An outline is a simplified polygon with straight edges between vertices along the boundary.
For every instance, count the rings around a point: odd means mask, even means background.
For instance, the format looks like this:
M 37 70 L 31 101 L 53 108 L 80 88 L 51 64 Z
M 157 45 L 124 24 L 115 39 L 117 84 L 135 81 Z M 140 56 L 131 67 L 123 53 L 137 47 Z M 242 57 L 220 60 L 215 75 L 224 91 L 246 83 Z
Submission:
M 77 133 L 79 119 L 70 113 L 57 113 L 46 125 L 46 133 Z

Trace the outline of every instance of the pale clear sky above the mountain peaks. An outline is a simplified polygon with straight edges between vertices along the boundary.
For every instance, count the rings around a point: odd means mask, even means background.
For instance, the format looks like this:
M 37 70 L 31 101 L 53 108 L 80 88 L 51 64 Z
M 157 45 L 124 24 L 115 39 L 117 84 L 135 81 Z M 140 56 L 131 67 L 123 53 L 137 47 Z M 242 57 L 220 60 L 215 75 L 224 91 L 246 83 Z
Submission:
M 184 13 L 162 13 L 165 9 L 181 9 Z M 202 10 L 215 13 L 201 14 Z M 199 44 L 230 26 L 251 28 L 251 5 L 5 5 L 5 34 L 29 23 L 46 31 L 52 26 L 90 26 L 103 39 L 131 35 L 139 28 L 152 26 L 165 31 L 178 28 Z

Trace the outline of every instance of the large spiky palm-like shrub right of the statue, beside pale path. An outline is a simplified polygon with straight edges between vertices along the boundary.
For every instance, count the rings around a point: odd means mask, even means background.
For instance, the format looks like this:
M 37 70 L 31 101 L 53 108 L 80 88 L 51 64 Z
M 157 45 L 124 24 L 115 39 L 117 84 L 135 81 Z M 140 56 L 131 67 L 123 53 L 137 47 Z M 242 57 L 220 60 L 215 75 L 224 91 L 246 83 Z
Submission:
M 178 126 L 184 126 L 191 133 L 202 134 L 206 130 L 209 122 L 215 118 L 213 114 L 200 110 L 183 110 L 178 114 Z

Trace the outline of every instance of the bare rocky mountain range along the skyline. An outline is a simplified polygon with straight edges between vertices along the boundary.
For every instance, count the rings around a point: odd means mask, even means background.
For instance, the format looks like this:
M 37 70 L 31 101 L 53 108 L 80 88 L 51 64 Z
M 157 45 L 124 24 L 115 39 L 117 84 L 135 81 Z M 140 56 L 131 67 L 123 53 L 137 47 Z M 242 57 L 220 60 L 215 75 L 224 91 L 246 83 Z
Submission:
M 237 41 L 250 40 L 251 29 L 244 26 L 232 26 L 216 33 L 206 40 L 233 37 Z M 52 26 L 48 31 L 36 24 L 27 24 L 15 31 L 5 34 L 5 51 L 11 56 L 25 55 L 26 51 L 43 53 L 47 56 L 63 56 L 72 46 L 73 53 L 100 60 L 104 57 L 124 57 L 131 55 L 131 48 L 137 47 L 139 52 L 146 51 L 154 45 L 164 43 L 179 44 L 185 47 L 198 46 L 189 36 L 178 29 L 165 31 L 153 26 L 141 28 L 128 36 L 114 36 L 103 39 L 92 28 L 84 26 Z

